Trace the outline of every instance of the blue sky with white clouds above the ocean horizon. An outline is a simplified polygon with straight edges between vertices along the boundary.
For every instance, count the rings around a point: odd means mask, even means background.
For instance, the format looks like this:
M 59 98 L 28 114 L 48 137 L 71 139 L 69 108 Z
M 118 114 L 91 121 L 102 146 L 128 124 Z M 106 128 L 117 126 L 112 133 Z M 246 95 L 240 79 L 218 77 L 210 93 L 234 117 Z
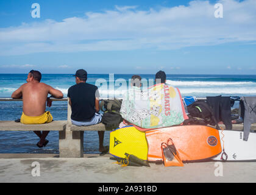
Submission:
M 255 74 L 256 0 L 0 0 L 0 73 L 80 68 Z

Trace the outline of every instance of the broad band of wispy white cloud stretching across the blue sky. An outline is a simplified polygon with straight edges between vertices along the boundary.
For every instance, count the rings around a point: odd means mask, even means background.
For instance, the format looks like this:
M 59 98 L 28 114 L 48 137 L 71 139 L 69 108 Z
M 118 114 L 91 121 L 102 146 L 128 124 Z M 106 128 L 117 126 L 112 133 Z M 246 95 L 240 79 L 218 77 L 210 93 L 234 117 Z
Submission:
M 215 18 L 214 4 L 191 1 L 188 6 L 139 10 L 115 6 L 85 17 L 46 19 L 0 29 L 0 55 L 35 52 L 179 49 L 256 41 L 256 1 L 220 0 L 224 18 Z M 245 31 L 246 29 L 246 31 Z

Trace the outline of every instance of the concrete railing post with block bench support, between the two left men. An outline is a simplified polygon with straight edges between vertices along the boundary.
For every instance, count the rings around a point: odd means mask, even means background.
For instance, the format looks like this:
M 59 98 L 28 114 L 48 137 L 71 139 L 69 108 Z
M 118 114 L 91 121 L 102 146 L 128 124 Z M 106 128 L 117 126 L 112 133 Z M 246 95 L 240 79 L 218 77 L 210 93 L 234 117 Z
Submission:
M 71 125 L 71 106 L 68 103 L 66 129 L 59 132 L 60 158 L 84 157 L 84 132 L 72 132 Z

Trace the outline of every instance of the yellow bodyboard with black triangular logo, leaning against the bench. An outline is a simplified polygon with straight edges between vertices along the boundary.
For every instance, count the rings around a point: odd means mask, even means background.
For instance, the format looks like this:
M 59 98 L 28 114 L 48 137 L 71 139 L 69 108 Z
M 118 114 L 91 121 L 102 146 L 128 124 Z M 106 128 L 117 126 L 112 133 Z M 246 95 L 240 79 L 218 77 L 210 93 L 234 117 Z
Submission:
M 120 158 L 126 158 L 125 153 L 147 160 L 148 143 L 145 132 L 133 126 L 125 126 L 110 132 L 109 153 Z

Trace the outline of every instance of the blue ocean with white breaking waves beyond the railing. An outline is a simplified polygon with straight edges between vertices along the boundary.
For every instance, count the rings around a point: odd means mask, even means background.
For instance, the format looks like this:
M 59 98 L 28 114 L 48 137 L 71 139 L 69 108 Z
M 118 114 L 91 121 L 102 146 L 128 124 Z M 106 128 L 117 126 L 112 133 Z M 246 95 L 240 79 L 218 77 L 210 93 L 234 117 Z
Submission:
M 141 74 L 143 88 L 154 84 L 154 74 Z M 168 74 L 167 83 L 180 90 L 182 96 L 256 96 L 256 75 L 183 75 Z M 88 83 L 99 87 L 101 97 L 120 97 L 129 87 L 132 74 L 88 74 Z M 20 85 L 26 82 L 27 74 L 0 74 L 0 97 L 10 97 Z M 41 82 L 61 90 L 66 97 L 68 88 L 75 84 L 72 74 L 43 74 Z M 234 108 L 238 107 L 238 102 Z M 66 102 L 53 102 L 51 108 L 54 120 L 66 119 Z M 20 118 L 22 102 L 0 102 L 0 120 Z M 104 145 L 109 144 L 109 133 L 105 132 Z M 85 132 L 84 151 L 97 154 L 98 133 Z M 0 132 L 0 153 L 59 153 L 59 133 L 50 132 L 48 146 L 38 148 L 39 138 L 34 132 Z

